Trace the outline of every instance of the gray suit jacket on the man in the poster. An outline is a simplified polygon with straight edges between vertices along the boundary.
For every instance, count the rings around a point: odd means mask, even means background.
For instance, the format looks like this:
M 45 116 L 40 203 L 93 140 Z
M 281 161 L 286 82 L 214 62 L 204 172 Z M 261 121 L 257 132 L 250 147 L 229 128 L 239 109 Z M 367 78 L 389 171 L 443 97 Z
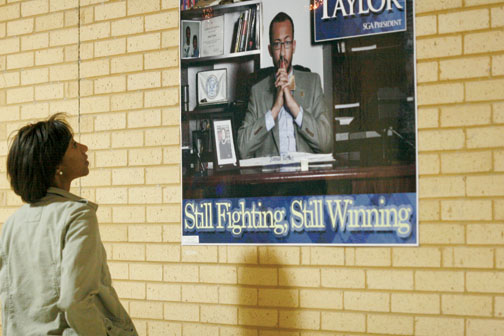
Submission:
M 320 77 L 312 72 L 294 70 L 296 90 L 294 99 L 303 107 L 301 127 L 294 123 L 298 152 L 330 153 L 333 129 L 330 112 L 324 104 Z M 242 159 L 280 155 L 279 129 L 266 130 L 265 115 L 273 106 L 276 88 L 274 74 L 251 89 L 245 119 L 238 130 L 238 148 Z

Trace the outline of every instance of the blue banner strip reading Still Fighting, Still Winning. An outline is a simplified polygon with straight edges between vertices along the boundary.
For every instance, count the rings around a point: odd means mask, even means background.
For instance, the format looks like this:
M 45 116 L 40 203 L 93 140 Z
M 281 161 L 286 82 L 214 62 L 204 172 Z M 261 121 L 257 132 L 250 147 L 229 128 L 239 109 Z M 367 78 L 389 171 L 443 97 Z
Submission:
M 183 241 L 416 245 L 415 193 L 186 199 Z

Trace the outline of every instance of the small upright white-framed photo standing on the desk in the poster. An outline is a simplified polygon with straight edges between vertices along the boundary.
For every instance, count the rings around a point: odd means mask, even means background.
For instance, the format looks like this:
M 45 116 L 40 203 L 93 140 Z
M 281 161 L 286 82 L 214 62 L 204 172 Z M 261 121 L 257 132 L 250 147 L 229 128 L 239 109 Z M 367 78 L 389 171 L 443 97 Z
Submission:
M 213 125 L 217 165 L 236 165 L 231 120 L 214 120 Z

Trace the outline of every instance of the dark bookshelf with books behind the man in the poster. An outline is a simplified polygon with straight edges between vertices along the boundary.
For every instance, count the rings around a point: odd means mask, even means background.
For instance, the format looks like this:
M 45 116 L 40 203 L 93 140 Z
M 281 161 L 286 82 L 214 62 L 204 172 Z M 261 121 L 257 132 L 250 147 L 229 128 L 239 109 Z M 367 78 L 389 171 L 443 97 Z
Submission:
M 243 32 L 245 27 L 243 23 L 245 15 L 253 20 L 249 19 L 247 29 L 242 35 L 246 39 L 242 44 L 245 47 L 237 49 L 239 32 Z M 212 125 L 213 120 L 231 119 L 233 135 L 236 137 L 248 100 L 248 79 L 252 73 L 260 69 L 261 47 L 264 43 L 262 2 L 249 0 L 205 8 L 192 8 L 180 12 L 180 20 L 184 23 L 188 21 L 203 22 L 217 17 L 223 18 L 223 53 L 181 59 L 181 86 L 186 87 L 185 91 L 189 96 L 188 103 L 182 104 L 181 111 L 182 146 L 189 150 L 194 148 L 193 134 L 205 131 L 201 125 Z M 182 24 L 181 27 L 183 28 Z M 184 37 L 183 33 L 182 31 L 181 38 Z M 181 44 L 183 43 L 182 39 Z M 216 69 L 226 69 L 227 71 L 227 103 L 201 106 L 197 101 L 197 74 L 200 71 Z M 181 99 L 181 101 L 184 100 Z M 212 136 L 212 130 L 207 131 Z M 208 146 L 207 148 L 209 152 L 212 151 L 212 148 Z M 205 160 L 212 161 L 213 154 L 206 154 Z

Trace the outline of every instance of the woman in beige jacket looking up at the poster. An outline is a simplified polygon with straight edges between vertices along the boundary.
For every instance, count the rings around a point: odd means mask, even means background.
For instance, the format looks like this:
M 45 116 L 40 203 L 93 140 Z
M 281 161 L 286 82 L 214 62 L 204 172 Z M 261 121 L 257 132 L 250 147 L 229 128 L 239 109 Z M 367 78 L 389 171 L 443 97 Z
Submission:
M 7 176 L 27 204 L 0 237 L 5 335 L 137 335 L 111 285 L 97 205 L 70 193 L 89 174 L 87 150 L 61 113 L 24 126 L 10 146 Z

